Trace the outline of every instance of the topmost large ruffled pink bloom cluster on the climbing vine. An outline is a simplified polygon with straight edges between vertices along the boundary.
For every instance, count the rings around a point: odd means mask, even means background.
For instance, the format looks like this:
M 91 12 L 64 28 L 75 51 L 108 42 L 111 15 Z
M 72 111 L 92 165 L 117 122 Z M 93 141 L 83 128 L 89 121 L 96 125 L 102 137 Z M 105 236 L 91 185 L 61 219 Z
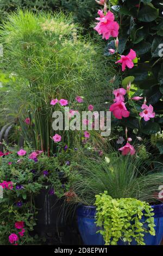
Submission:
M 114 14 L 111 13 L 111 11 L 108 11 L 108 13 L 104 15 L 102 10 L 98 10 L 98 15 L 100 17 L 96 18 L 96 20 L 98 20 L 99 23 L 97 23 L 97 26 L 94 29 L 99 35 L 103 35 L 103 39 L 105 38 L 108 40 L 110 36 L 116 38 L 120 26 L 114 21 Z

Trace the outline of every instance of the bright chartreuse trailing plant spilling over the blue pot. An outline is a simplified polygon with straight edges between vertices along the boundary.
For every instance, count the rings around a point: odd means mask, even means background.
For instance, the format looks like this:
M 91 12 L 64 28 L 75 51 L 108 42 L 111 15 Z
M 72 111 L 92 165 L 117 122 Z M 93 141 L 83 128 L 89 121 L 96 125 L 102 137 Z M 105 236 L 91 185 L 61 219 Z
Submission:
M 127 244 L 134 239 L 137 245 L 145 245 L 145 233 L 155 235 L 154 213 L 148 203 L 135 198 L 113 199 L 104 191 L 96 196 L 95 205 L 96 224 L 103 227 L 99 233 L 105 245 L 117 245 L 120 239 Z

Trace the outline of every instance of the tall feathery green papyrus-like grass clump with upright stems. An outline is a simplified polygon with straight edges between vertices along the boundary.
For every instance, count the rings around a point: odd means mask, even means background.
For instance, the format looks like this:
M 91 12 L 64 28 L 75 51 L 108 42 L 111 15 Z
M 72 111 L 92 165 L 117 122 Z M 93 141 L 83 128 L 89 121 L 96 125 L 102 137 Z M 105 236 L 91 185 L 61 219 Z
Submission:
M 32 141 L 37 150 L 54 153 L 52 113 L 64 109 L 61 104 L 52 107 L 51 101 L 66 99 L 70 102 L 68 107 L 77 95 L 84 96 L 85 102 L 94 98 L 98 101 L 96 92 L 103 95 L 107 84 L 99 47 L 89 36 L 80 35 L 80 28 L 70 16 L 28 10 L 8 15 L 1 29 L 1 43 L 2 69 L 17 78 L 16 85 L 7 89 L 3 103 L 6 100 L 4 105 L 13 114 L 14 102 L 18 102 L 25 139 Z M 27 118 L 29 126 L 24 123 Z M 64 133 L 67 143 L 75 134 Z

